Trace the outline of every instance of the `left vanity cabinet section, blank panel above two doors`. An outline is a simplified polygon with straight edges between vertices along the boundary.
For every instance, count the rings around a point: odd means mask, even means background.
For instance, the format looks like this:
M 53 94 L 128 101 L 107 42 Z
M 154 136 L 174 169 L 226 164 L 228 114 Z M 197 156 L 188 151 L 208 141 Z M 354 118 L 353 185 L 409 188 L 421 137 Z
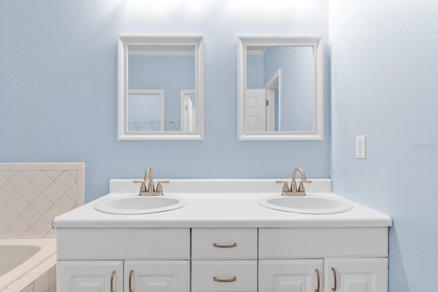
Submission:
M 189 228 L 60 228 L 57 247 L 57 291 L 190 292 Z

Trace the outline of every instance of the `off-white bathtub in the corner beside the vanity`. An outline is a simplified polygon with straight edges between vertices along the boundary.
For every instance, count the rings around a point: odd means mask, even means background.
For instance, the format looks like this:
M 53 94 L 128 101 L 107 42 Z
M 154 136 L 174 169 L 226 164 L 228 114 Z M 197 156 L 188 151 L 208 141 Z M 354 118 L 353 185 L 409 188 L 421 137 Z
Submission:
M 38 277 L 38 267 L 55 254 L 56 239 L 1 239 L 0 291 L 16 282 L 21 283 L 12 286 L 27 287 L 33 282 L 29 275 Z M 28 283 L 23 283 L 25 278 Z

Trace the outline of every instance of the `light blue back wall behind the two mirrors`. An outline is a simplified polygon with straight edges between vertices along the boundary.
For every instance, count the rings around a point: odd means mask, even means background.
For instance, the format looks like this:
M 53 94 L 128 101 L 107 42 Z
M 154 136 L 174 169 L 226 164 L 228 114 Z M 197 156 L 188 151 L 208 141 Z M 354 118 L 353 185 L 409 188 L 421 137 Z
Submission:
M 237 142 L 237 36 L 322 36 L 329 1 L 0 1 L 0 162 L 85 162 L 86 202 L 110 178 L 330 176 L 324 141 Z M 117 141 L 118 34 L 205 36 L 205 141 Z M 328 64 L 326 57 L 324 62 Z

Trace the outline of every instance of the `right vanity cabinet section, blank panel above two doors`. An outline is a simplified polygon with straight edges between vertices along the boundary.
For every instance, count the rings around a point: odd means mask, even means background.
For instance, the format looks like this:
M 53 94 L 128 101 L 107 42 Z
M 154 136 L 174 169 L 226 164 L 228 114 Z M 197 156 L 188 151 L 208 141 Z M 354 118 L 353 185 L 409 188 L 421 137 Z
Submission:
M 259 292 L 387 292 L 387 232 L 260 228 Z

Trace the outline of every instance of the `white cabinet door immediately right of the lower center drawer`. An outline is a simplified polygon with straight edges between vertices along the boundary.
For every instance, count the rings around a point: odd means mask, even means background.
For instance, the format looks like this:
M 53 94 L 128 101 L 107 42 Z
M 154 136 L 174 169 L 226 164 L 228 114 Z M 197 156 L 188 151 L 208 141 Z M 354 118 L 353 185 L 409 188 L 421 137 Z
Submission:
M 259 292 L 322 292 L 322 259 L 259 260 Z

